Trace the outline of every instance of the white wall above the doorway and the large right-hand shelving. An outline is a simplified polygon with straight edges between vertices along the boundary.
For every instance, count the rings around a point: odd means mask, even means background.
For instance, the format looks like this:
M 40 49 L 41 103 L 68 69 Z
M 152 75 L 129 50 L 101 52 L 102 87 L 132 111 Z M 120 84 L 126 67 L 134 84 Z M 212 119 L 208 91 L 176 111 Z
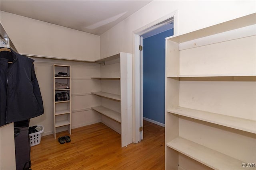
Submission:
M 100 57 L 133 53 L 133 32 L 178 10 L 178 34 L 256 12 L 255 1 L 153 1 L 100 35 Z M 175 25 L 174 25 L 175 27 Z

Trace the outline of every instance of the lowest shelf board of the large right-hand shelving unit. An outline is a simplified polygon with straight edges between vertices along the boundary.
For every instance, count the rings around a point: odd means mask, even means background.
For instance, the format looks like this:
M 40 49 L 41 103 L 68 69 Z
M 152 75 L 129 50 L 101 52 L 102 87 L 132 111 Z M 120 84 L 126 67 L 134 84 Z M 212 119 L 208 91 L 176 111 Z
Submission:
M 194 143 L 182 137 L 177 137 L 166 145 L 213 169 L 236 170 L 241 169 L 242 163 L 244 163 L 241 160 L 232 158 L 231 156 L 222 154 L 216 150 L 204 147 L 203 145 L 199 145 L 198 143 Z

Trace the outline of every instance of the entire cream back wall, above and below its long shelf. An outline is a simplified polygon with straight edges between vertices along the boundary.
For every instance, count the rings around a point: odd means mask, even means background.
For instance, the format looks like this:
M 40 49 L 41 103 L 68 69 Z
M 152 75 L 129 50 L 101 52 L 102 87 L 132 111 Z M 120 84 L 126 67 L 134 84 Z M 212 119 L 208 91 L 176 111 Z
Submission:
M 88 61 L 100 58 L 98 35 L 2 11 L 1 23 L 18 53 Z M 33 59 L 44 102 L 44 114 L 30 119 L 30 126 L 43 125 L 43 135 L 49 135 L 52 134 L 54 118 L 53 64 L 71 65 L 71 76 L 74 79 L 100 76 L 100 64 Z M 72 94 L 100 91 L 100 83 L 95 80 L 72 80 L 71 83 Z M 101 115 L 88 110 L 92 106 L 100 105 L 100 99 L 93 95 L 71 96 L 71 99 L 72 110 L 75 111 L 72 113 L 72 128 L 100 122 Z M 81 109 L 87 110 L 78 111 Z

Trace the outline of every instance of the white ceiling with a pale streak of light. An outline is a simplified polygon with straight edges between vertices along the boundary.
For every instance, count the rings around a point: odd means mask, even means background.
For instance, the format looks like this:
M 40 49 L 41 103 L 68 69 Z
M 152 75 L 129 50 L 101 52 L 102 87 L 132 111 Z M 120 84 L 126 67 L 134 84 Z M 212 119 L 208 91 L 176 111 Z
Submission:
M 1 0 L 0 10 L 101 35 L 152 0 Z

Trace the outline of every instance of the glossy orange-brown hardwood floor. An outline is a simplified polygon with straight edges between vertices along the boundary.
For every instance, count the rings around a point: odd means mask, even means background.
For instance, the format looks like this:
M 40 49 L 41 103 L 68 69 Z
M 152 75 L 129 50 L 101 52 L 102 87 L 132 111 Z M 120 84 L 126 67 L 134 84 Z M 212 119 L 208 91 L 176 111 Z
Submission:
M 44 136 L 31 147 L 32 170 L 164 170 L 164 127 L 144 121 L 144 139 L 121 148 L 121 136 L 102 123 L 72 129 L 71 142 Z

